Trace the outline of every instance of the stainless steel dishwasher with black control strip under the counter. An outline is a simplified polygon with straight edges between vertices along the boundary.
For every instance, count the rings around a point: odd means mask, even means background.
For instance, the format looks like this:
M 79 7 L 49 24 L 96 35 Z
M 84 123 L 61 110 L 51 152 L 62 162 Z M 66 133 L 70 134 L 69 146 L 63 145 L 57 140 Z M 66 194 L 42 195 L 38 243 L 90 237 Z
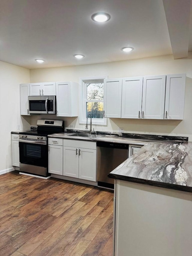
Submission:
M 129 145 L 122 143 L 97 142 L 98 186 L 114 188 L 114 179 L 107 175 L 128 158 Z

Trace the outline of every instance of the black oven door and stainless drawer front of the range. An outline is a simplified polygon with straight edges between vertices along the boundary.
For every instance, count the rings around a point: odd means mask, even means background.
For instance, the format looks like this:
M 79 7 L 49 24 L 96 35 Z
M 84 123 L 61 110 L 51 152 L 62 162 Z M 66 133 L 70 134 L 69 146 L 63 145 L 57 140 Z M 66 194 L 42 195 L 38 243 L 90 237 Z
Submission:
M 48 145 L 19 141 L 20 171 L 47 176 Z

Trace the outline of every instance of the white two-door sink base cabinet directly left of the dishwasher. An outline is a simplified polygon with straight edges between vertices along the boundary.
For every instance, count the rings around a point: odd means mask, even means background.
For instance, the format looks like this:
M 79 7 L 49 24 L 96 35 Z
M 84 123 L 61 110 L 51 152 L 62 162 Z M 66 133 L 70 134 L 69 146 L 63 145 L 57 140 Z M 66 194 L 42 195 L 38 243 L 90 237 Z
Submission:
M 96 142 L 63 140 L 63 175 L 96 181 Z

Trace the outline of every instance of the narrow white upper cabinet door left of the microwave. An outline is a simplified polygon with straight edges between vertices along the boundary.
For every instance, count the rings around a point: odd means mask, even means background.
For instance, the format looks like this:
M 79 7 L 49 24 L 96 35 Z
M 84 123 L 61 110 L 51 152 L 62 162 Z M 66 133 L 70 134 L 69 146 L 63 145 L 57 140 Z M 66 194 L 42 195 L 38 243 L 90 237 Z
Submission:
M 20 113 L 30 115 L 28 111 L 29 83 L 20 84 Z

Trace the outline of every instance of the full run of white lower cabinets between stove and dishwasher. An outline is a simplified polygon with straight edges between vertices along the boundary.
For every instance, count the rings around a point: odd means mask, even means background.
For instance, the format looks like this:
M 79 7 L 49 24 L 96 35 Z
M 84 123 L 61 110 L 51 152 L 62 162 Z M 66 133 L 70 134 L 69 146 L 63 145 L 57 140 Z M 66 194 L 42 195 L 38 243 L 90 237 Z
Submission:
M 49 173 L 96 181 L 96 142 L 49 138 Z

